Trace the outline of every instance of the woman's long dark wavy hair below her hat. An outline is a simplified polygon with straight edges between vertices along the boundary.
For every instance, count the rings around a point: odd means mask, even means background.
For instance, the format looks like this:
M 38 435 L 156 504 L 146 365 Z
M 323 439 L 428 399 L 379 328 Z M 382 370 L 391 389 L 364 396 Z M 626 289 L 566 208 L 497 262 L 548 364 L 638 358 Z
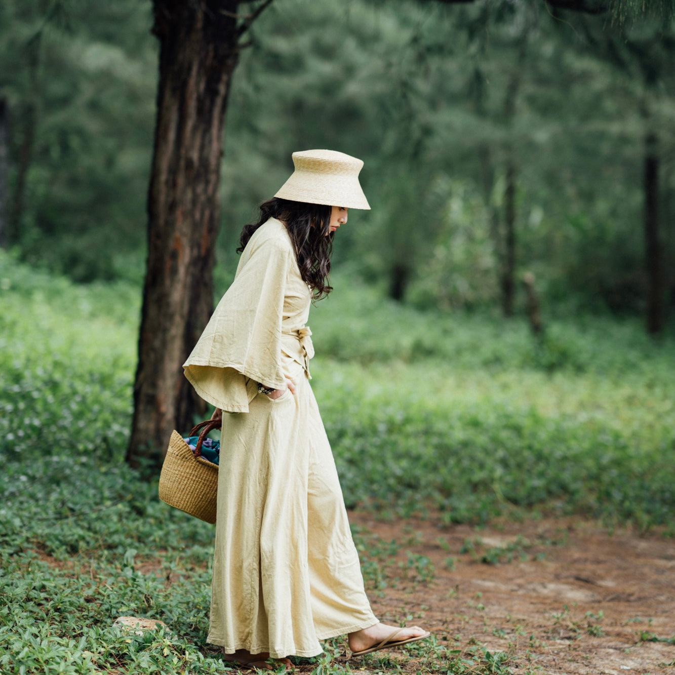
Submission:
M 260 205 L 260 217 L 244 225 L 239 237 L 241 253 L 252 234 L 270 218 L 280 220 L 290 234 L 302 280 L 311 288 L 315 300 L 325 298 L 332 286 L 328 284 L 333 252 L 333 233 L 329 232 L 331 207 L 323 204 L 292 202 L 273 197 Z

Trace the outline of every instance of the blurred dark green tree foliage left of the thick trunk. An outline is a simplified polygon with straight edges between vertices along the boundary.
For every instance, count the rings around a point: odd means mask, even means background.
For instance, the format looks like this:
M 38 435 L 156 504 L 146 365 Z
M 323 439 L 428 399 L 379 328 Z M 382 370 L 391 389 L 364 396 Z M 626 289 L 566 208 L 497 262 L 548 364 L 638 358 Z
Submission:
M 157 72 L 150 9 L 133 0 L 0 9 L 7 214 L 11 243 L 33 265 L 79 281 L 142 275 Z

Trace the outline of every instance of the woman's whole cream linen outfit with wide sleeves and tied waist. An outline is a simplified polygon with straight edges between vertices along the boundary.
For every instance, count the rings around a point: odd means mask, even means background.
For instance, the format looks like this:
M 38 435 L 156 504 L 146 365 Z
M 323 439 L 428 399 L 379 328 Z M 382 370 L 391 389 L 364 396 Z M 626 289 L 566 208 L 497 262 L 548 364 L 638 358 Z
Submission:
M 377 623 L 338 473 L 309 385 L 311 292 L 270 219 L 184 365 L 223 415 L 211 621 L 225 653 L 315 656 L 319 640 Z M 257 383 L 296 393 L 276 400 Z

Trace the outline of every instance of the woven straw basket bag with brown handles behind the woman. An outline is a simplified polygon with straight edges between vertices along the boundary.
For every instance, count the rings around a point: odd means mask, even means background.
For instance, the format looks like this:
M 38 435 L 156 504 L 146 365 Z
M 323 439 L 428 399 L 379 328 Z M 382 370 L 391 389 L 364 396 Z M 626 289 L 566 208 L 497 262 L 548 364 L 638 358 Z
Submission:
M 220 420 L 207 420 L 190 431 L 193 436 L 201 429 L 194 452 L 180 433 L 173 431 L 159 476 L 159 498 L 163 502 L 212 524 L 215 523 L 218 465 L 201 454 L 207 434 L 220 429 L 220 424 Z

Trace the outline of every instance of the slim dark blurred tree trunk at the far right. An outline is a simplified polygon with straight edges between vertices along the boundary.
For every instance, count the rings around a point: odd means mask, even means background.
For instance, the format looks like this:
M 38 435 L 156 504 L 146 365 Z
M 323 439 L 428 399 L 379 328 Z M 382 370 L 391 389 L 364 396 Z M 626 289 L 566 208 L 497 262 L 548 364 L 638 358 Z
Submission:
M 652 335 L 664 329 L 664 284 L 659 248 L 659 157 L 658 139 L 645 137 L 645 254 L 647 264 L 647 331 Z

